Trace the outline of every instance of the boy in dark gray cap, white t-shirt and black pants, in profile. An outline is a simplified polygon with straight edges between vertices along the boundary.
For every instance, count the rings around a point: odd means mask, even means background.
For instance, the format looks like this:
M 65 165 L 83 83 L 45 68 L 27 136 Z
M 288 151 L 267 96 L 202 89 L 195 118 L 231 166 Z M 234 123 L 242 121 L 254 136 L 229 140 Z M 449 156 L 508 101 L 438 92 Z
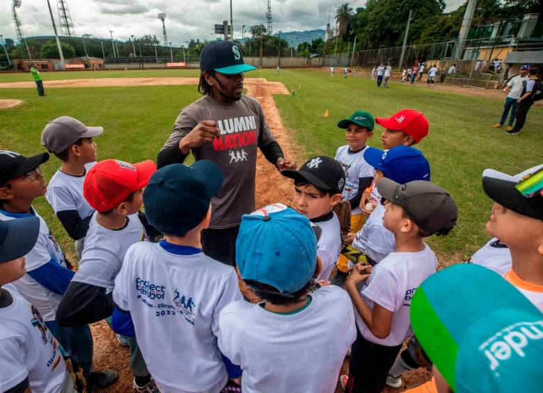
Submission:
M 383 225 L 393 233 L 396 246 L 374 267 L 357 264 L 347 279 L 359 335 L 348 380 L 342 376 L 341 382 L 352 392 L 377 393 L 385 387 L 388 370 L 411 333 L 411 298 L 436 272 L 437 259 L 423 238 L 448 234 L 458 214 L 449 193 L 431 182 L 380 179 L 377 188 L 387 201 Z

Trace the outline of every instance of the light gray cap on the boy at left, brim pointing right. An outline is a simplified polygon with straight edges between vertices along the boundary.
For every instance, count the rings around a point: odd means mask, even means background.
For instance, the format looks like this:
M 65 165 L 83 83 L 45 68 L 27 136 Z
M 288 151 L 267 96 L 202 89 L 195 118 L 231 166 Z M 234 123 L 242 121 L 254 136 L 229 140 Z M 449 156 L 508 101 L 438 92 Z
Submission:
M 42 145 L 58 154 L 76 143 L 79 138 L 93 138 L 104 132 L 102 127 L 87 127 L 70 116 L 61 116 L 47 123 L 42 131 Z

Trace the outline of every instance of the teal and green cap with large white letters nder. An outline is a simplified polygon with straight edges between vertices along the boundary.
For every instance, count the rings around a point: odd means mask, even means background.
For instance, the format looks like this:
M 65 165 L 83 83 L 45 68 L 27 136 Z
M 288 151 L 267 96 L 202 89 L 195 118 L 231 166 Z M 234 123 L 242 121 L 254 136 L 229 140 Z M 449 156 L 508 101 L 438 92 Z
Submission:
M 458 264 L 427 278 L 411 326 L 456 393 L 541 392 L 543 314 L 494 271 Z

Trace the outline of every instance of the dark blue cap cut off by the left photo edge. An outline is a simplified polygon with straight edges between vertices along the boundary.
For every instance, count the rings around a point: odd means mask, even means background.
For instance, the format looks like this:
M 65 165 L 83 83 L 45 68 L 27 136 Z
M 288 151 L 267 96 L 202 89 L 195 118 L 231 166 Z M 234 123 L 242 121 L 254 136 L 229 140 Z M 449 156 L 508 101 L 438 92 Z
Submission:
M 40 231 L 40 218 L 25 217 L 4 221 L 8 225 L 0 244 L 0 262 L 13 261 L 30 252 Z

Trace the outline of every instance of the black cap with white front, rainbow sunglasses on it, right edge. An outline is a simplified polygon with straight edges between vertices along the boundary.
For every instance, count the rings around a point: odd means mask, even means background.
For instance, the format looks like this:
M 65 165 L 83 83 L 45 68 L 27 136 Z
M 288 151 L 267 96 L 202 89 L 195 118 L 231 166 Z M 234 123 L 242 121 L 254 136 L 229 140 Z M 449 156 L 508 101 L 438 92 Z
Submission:
M 503 207 L 523 216 L 543 220 L 543 196 L 541 193 L 527 198 L 516 187 L 523 177 L 542 168 L 543 164 L 512 176 L 494 169 L 485 169 L 482 173 L 482 189 L 491 200 L 498 202 Z

